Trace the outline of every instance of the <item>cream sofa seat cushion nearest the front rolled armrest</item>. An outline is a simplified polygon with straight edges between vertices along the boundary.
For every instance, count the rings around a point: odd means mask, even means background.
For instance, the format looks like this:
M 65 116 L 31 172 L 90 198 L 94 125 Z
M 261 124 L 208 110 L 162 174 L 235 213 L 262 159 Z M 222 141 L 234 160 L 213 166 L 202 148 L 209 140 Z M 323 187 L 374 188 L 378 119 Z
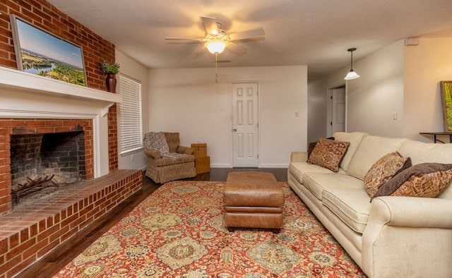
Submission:
M 322 203 L 350 229 L 362 234 L 369 222 L 369 200 L 364 188 L 325 188 Z

